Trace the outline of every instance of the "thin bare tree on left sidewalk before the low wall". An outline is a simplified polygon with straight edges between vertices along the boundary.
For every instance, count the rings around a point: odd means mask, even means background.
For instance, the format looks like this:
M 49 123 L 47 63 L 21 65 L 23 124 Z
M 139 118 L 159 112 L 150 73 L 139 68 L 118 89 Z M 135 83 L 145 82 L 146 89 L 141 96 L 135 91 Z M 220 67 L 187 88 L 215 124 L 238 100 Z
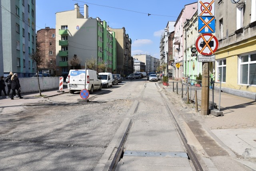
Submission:
M 38 78 L 38 68 L 41 64 L 43 64 L 44 62 L 44 58 L 43 58 L 43 54 L 40 51 L 40 44 L 37 43 L 36 44 L 36 52 L 29 54 L 29 58 L 32 59 L 34 62 L 36 62 L 36 74 L 37 74 L 37 81 L 38 81 L 38 87 L 39 87 L 39 94 L 40 96 L 42 96 L 41 94 L 41 88 L 40 88 L 40 83 L 39 83 L 39 78 Z

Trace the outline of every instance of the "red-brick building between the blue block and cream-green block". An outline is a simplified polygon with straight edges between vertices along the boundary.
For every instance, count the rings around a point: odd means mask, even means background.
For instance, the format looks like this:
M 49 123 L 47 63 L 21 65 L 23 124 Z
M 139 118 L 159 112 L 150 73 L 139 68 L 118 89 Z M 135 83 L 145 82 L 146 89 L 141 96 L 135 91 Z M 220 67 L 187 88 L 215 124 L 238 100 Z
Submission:
M 56 75 L 56 40 L 55 28 L 46 27 L 37 31 L 36 43 L 44 56 L 44 62 L 39 66 L 39 74 Z

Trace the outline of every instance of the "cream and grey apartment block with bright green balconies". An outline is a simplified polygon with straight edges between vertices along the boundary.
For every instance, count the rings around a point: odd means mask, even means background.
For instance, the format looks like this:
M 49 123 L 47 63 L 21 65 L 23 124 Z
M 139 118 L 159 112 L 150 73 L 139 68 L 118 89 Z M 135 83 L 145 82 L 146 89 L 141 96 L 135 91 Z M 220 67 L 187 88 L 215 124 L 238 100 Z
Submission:
M 86 60 L 96 60 L 98 72 L 116 71 L 115 32 L 109 31 L 106 21 L 88 17 L 88 6 L 84 4 L 84 15 L 78 4 L 74 10 L 56 13 L 56 70 L 65 76 L 70 70 L 68 60 L 74 55 L 80 58 L 81 68 Z M 102 69 L 104 65 L 105 69 Z

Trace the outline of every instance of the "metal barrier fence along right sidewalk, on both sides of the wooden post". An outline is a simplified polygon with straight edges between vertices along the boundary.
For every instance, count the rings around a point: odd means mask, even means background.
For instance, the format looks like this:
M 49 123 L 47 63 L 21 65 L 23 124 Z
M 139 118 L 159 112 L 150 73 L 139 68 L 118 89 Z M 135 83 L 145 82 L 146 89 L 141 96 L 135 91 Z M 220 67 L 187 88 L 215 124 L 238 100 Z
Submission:
M 176 85 L 175 85 L 176 83 Z M 178 82 L 172 82 L 173 91 L 176 90 L 176 93 L 181 93 L 182 98 L 186 96 L 187 99 L 194 103 L 196 101 L 198 105 L 201 105 L 202 102 L 202 81 L 201 80 L 192 80 L 187 79 L 181 83 L 181 86 L 178 87 Z M 220 111 L 220 93 L 221 93 L 221 82 L 209 82 L 209 108 L 216 109 Z M 188 91 L 187 91 L 188 90 Z

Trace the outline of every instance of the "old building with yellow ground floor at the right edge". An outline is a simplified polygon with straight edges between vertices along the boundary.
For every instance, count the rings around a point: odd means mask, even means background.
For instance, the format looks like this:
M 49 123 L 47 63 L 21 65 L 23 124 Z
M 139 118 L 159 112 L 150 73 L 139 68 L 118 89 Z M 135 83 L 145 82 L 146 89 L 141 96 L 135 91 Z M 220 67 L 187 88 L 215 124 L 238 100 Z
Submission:
M 256 0 L 215 3 L 215 81 L 223 91 L 256 99 Z

